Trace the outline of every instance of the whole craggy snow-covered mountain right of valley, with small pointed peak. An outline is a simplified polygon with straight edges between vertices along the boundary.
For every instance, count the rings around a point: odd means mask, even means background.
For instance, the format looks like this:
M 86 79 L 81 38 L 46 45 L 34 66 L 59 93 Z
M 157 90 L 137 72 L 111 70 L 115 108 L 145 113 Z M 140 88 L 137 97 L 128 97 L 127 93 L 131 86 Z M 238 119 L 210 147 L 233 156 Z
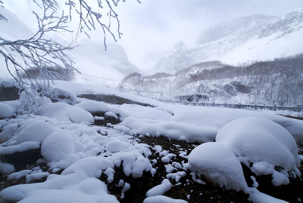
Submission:
M 211 26 L 200 32 L 195 45 L 177 42 L 168 56 L 161 58 L 154 72 L 173 73 L 193 64 L 221 60 L 236 64 L 267 60 L 303 52 L 303 8 L 278 18 L 251 15 Z

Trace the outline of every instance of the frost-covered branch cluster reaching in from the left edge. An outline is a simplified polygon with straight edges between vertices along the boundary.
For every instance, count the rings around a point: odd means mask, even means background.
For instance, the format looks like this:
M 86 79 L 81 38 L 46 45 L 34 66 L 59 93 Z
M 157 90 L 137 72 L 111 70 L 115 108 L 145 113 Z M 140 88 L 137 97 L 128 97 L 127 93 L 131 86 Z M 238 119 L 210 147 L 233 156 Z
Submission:
M 72 66 L 72 60 L 64 52 L 71 50 L 73 48 L 71 45 L 66 47 L 52 39 L 43 38 L 46 32 L 72 32 L 65 26 L 68 16 L 65 16 L 64 12 L 59 17 L 54 15 L 54 11 L 50 15 L 47 14 L 49 9 L 54 9 L 54 5 L 49 4 L 50 2 L 43 1 L 45 10 L 42 18 L 33 12 L 38 20 L 38 31 L 31 38 L 15 41 L 0 38 L 0 54 L 5 59 L 6 68 L 18 82 L 20 88 L 26 92 L 25 100 L 21 103 L 20 108 L 24 108 L 28 114 L 30 114 L 32 106 L 38 108 L 35 97 L 38 92 L 41 92 L 40 96 L 43 97 L 45 92 L 43 85 L 48 86 L 50 81 L 53 82 L 53 79 L 58 78 L 58 73 L 48 71 L 48 67 L 64 66 L 80 73 Z M 28 74 L 29 69 L 37 69 L 37 75 Z M 41 79 L 43 80 L 42 85 Z

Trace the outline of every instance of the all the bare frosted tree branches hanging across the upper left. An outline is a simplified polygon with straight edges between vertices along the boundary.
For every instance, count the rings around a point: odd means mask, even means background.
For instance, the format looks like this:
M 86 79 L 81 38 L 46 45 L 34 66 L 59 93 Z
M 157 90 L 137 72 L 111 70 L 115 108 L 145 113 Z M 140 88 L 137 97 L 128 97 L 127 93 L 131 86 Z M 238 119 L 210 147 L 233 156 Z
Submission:
M 75 39 L 77 39 L 82 32 L 89 37 L 88 31 L 95 30 L 97 26 L 101 27 L 104 34 L 105 50 L 107 34 L 115 41 L 117 41 L 116 35 L 118 35 L 119 38 L 122 35 L 118 15 L 113 9 L 113 6 L 118 5 L 119 0 L 66 0 L 65 5 L 69 8 L 68 12 L 64 10 L 60 11 L 61 5 L 57 0 L 32 1 L 37 4 L 43 12 L 43 16 L 41 16 L 38 15 L 38 12 L 33 11 L 38 21 L 37 32 L 28 39 L 16 39 L 15 41 L 10 41 L 0 36 L 0 56 L 4 57 L 3 61 L 6 68 L 15 78 L 16 82 L 18 82 L 20 89 L 26 92 L 26 97 L 21 108 L 25 108 L 23 110 L 28 111 L 28 115 L 30 114 L 32 106 L 38 108 L 38 105 L 40 105 L 36 97 L 40 96 L 43 98 L 50 82 L 53 83 L 53 79 L 58 76 L 58 73 L 48 70 L 47 67 L 62 66 L 68 69 L 74 69 L 80 73 L 73 66 L 74 62 L 70 60 L 65 53 L 65 51 L 74 48 L 72 43 L 68 46 L 61 45 L 53 39 L 45 38 L 45 33 L 73 32 L 68 29 L 67 23 L 72 21 L 72 19 L 75 21 L 78 20 L 79 26 Z M 125 2 L 125 0 L 122 1 Z M 1 4 L 3 4 L 2 1 L 0 1 L 0 6 Z M 100 11 L 105 12 L 105 19 Z M 74 13 L 76 13 L 77 18 L 72 18 L 75 17 Z M 111 27 L 111 19 L 116 21 L 117 26 L 115 28 Z M 0 20 L 8 21 L 7 18 L 1 14 Z M 26 79 L 24 79 L 25 77 L 24 75 L 22 76 L 21 73 L 25 72 L 26 74 L 27 69 L 32 68 L 38 69 L 38 77 L 27 74 Z M 38 78 L 42 78 L 42 82 L 38 80 Z

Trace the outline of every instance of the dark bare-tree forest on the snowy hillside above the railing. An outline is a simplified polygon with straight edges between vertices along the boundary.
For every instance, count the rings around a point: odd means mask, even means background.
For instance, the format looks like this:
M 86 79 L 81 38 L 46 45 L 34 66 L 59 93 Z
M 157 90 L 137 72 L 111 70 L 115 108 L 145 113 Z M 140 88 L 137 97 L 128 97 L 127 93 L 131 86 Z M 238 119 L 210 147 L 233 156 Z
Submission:
M 120 88 L 157 89 L 171 92 L 171 97 L 202 92 L 222 103 L 302 105 L 302 64 L 303 54 L 236 66 L 219 61 L 201 62 L 175 75 L 157 73 L 142 77 L 133 73 L 123 79 Z

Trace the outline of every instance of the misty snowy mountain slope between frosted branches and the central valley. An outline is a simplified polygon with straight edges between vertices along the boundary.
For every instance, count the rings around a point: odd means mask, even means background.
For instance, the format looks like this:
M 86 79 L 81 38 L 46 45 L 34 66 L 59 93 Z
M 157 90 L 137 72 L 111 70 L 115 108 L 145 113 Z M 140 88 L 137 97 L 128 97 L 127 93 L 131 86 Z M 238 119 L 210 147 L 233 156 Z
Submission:
M 112 81 L 120 81 L 125 75 L 140 70 L 128 61 L 124 48 L 115 43 L 107 44 L 83 39 L 69 54 L 76 63 L 82 75 L 77 76 L 77 82 L 95 85 L 108 85 Z

